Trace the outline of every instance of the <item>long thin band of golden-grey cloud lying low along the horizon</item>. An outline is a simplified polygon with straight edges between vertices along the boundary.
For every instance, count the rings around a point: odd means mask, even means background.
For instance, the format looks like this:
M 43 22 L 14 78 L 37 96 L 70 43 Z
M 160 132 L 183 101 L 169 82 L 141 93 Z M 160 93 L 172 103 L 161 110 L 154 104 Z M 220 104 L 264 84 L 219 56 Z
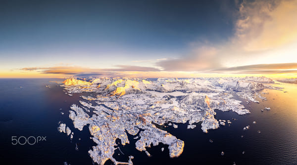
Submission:
M 171 66 L 171 65 L 170 65 Z M 169 67 L 170 67 L 169 66 Z M 120 65 L 117 69 L 92 69 L 82 67 L 36 67 L 36 68 L 22 68 L 20 70 L 26 72 L 36 71 L 42 75 L 60 75 L 68 76 L 101 76 L 101 77 L 145 77 L 145 78 L 186 78 L 186 77 L 201 77 L 211 75 L 255 75 L 255 74 L 294 74 L 297 75 L 297 63 L 277 63 L 277 64 L 256 64 L 244 65 L 237 67 L 219 67 L 216 69 L 209 69 L 203 72 L 189 72 L 189 71 L 160 71 L 150 67 L 126 66 Z M 172 70 L 174 70 L 172 68 Z M 192 71 L 191 69 L 189 69 Z

